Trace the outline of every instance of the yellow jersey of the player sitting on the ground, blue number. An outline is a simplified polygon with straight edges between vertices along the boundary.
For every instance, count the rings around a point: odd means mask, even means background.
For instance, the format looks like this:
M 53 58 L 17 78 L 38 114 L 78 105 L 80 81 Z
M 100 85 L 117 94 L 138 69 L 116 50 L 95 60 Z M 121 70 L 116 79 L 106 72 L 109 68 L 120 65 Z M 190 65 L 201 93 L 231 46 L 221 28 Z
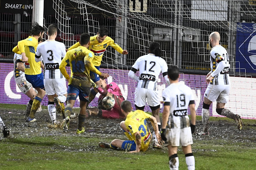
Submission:
M 134 133 L 139 132 L 141 134 L 141 151 L 145 151 L 150 144 L 151 133 L 148 128 L 147 119 L 151 118 L 151 115 L 141 111 L 136 110 L 127 115 L 125 119 L 126 129 L 131 133 L 133 140 L 136 142 L 136 137 Z

